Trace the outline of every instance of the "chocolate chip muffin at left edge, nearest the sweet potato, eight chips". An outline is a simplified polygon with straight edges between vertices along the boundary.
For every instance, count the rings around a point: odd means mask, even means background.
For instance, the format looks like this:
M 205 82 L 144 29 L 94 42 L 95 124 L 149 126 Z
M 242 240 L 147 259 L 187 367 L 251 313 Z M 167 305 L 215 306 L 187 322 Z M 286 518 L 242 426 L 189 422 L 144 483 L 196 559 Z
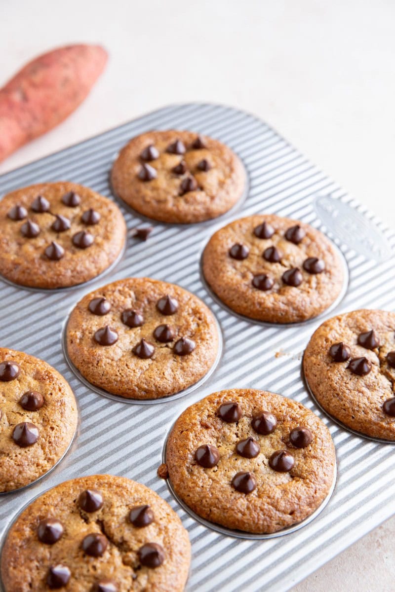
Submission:
M 125 240 L 117 205 L 82 185 L 41 183 L 0 201 L 0 274 L 15 284 L 81 284 L 114 263 Z

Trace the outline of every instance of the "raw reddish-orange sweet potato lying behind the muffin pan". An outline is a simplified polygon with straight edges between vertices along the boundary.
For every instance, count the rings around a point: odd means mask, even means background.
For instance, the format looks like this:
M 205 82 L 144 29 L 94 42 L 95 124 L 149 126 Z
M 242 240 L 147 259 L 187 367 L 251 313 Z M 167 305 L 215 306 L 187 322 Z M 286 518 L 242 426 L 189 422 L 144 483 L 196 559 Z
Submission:
M 0 89 L 0 162 L 65 120 L 84 101 L 106 62 L 102 47 L 78 44 L 24 66 Z

